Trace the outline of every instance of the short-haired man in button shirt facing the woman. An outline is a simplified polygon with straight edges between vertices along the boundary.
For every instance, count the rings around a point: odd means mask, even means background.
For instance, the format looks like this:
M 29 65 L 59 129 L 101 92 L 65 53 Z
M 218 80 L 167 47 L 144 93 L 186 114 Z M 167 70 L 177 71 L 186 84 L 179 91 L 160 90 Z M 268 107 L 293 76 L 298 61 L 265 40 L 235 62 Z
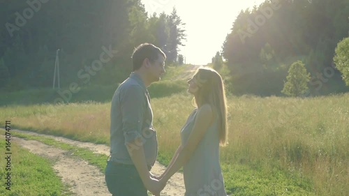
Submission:
M 133 73 L 114 93 L 110 111 L 110 160 L 105 168 L 107 188 L 113 196 L 160 195 L 150 169 L 156 161 L 158 142 L 147 86 L 165 73 L 166 55 L 144 43 L 132 54 Z

